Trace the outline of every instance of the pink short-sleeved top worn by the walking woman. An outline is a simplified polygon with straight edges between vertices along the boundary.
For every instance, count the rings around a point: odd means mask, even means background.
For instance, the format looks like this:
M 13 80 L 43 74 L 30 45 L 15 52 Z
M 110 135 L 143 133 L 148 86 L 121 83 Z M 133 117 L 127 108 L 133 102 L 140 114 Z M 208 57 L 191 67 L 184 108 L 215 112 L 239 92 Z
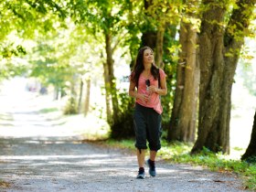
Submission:
M 163 69 L 159 69 L 159 73 L 160 73 L 160 79 L 163 79 L 166 77 L 165 71 Z M 139 94 L 149 94 L 149 92 L 146 91 L 145 80 L 146 79 L 144 78 L 144 76 L 141 75 L 138 82 Z M 158 80 L 155 80 L 153 76 L 151 76 L 149 80 L 150 80 L 150 85 L 155 85 L 155 87 L 158 87 Z M 136 102 L 144 107 L 153 108 L 155 112 L 158 112 L 159 114 L 163 112 L 163 107 L 161 105 L 160 97 L 155 92 L 151 93 L 149 102 L 144 102 L 144 101 L 141 101 L 140 99 L 136 99 Z

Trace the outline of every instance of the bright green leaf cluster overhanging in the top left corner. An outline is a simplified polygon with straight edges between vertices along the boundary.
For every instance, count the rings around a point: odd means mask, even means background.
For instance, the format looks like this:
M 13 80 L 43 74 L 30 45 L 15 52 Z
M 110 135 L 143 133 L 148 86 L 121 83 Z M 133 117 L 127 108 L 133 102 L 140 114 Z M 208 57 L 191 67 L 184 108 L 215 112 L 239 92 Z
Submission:
M 4 1 L 0 4 L 0 10 L 0 40 L 12 31 L 26 38 L 35 37 L 37 32 L 44 34 L 55 29 L 58 16 L 66 16 L 60 2 L 52 0 Z

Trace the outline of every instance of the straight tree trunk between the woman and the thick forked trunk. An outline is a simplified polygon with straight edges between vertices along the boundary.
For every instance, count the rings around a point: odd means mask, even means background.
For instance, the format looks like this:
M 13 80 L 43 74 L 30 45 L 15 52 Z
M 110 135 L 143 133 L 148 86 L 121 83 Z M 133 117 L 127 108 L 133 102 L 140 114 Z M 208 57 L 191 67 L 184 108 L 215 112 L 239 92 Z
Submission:
M 199 67 L 197 66 L 197 32 L 192 24 L 180 27 L 179 64 L 176 73 L 176 93 L 168 141 L 194 142 L 196 133 Z

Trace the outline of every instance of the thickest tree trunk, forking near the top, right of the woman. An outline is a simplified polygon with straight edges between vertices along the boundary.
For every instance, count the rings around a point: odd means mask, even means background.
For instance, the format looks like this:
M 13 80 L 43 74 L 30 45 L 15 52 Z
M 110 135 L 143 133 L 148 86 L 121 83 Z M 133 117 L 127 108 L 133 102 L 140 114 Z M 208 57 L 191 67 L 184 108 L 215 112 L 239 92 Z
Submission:
M 213 152 L 229 154 L 229 121 L 230 95 L 233 78 L 243 44 L 244 29 L 248 27 L 249 15 L 255 4 L 248 0 L 240 0 L 239 8 L 234 9 L 228 29 L 225 33 L 224 23 L 227 9 L 222 5 L 213 4 L 211 0 L 203 1 L 208 9 L 202 17 L 199 35 L 200 90 L 198 136 L 191 153 L 197 153 L 203 147 Z M 246 5 L 248 4 L 248 5 Z M 252 13 L 252 12 L 251 12 Z M 229 33 L 229 27 L 237 25 L 236 32 Z M 224 44 L 225 39 L 225 44 Z M 235 50 L 231 52 L 232 50 Z M 231 56 L 230 56 L 231 53 Z

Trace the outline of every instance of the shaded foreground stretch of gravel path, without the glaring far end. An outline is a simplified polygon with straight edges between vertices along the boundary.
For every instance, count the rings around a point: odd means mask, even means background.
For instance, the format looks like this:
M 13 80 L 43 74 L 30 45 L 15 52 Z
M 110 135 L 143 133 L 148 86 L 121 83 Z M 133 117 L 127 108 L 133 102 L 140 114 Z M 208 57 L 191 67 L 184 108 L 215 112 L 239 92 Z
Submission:
M 1 191 L 242 191 L 238 178 L 190 165 L 157 164 L 136 179 L 136 159 L 69 140 L 1 139 Z

